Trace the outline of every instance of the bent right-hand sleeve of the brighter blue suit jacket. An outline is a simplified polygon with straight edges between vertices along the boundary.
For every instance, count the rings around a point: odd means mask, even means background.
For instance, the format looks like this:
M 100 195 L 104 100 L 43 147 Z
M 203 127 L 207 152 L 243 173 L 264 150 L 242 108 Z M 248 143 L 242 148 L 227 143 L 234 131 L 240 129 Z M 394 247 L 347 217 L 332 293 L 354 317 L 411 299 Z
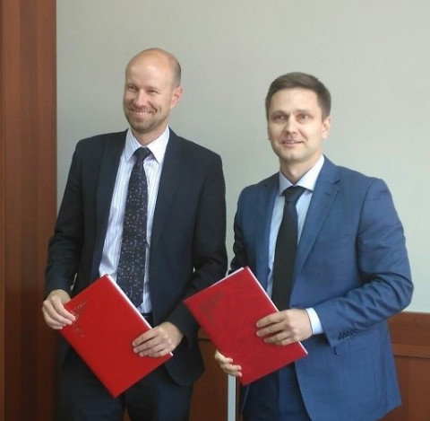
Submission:
M 383 180 L 373 180 L 361 206 L 355 244 L 361 285 L 314 305 L 331 346 L 403 310 L 412 296 L 403 228 Z M 344 265 L 342 250 L 333 265 Z

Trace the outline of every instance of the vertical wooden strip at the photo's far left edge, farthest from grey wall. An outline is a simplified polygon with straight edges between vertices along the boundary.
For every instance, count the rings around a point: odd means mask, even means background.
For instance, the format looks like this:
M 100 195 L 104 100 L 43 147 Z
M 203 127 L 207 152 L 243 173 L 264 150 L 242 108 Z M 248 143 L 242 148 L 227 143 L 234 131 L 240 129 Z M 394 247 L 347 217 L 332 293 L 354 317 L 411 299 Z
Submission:
M 4 1 L 4 418 L 17 419 L 21 367 L 22 32 L 20 2 Z M 13 352 L 11 352 L 13 350 Z M 15 381 L 11 381 L 13 373 Z

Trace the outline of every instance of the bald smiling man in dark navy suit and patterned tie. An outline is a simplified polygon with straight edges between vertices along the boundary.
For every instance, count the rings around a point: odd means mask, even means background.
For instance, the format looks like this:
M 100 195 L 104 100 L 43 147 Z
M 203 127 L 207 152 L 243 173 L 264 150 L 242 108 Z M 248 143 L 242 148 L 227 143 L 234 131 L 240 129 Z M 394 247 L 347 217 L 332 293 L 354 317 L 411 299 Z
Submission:
M 137 309 L 154 328 L 130 346 L 141 356 L 174 355 L 114 399 L 64 345 L 61 421 L 121 421 L 125 408 L 132 421 L 188 419 L 193 382 L 203 365 L 198 325 L 183 300 L 225 275 L 226 209 L 219 155 L 176 136 L 168 126 L 170 111 L 182 96 L 180 76 L 176 57 L 167 51 L 150 48 L 137 54 L 125 70 L 123 107 L 130 127 L 76 146 L 49 241 L 42 310 L 50 328 L 62 329 L 75 320 L 64 309 L 71 296 L 101 275 L 117 280 L 127 188 L 135 152 L 143 152 L 147 221 L 141 220 L 132 241 L 146 235 L 138 248 L 139 258 L 146 256 L 146 261 L 133 278 L 142 281 L 142 291 L 134 296 Z M 141 178 L 137 184 L 146 183 Z M 132 212 L 134 219 L 145 206 L 135 207 L 139 211 Z M 125 267 L 135 266 L 136 260 L 129 259 L 132 263 Z

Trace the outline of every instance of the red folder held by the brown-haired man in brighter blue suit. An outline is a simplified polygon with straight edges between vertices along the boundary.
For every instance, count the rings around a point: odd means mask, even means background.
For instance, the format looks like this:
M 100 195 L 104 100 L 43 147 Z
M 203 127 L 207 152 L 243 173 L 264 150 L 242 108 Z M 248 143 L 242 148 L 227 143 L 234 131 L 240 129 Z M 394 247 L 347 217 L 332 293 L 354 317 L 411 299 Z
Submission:
M 257 320 L 278 309 L 247 267 L 187 298 L 185 305 L 219 352 L 242 366 L 244 385 L 307 355 L 300 342 L 278 346 L 256 336 Z

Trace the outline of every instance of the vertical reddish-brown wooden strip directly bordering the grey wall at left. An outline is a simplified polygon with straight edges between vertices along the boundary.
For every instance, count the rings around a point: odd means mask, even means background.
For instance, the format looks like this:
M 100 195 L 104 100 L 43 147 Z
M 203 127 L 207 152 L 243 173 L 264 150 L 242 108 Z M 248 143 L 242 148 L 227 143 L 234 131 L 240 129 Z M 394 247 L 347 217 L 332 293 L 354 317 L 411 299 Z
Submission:
M 50 393 L 43 388 L 37 390 L 38 414 L 52 419 L 52 410 L 56 399 L 56 336 L 47 329 L 41 319 L 40 306 L 43 300 L 45 284 L 45 266 L 47 260 L 47 241 L 54 230 L 56 218 L 56 1 L 36 1 L 36 95 L 39 98 L 37 123 L 35 131 L 39 138 L 37 161 L 39 177 L 37 186 L 37 206 L 39 224 L 36 232 L 39 245 L 37 247 L 36 262 L 39 282 L 35 285 L 35 300 L 32 307 L 37 310 L 38 320 L 37 343 L 35 353 L 39 360 L 37 364 L 38 383 L 49 378 Z M 49 46 L 49 48 L 47 48 Z M 49 92 L 48 95 L 45 93 Z M 39 312 L 38 312 L 39 311 Z M 46 418 L 48 419 L 48 418 Z

